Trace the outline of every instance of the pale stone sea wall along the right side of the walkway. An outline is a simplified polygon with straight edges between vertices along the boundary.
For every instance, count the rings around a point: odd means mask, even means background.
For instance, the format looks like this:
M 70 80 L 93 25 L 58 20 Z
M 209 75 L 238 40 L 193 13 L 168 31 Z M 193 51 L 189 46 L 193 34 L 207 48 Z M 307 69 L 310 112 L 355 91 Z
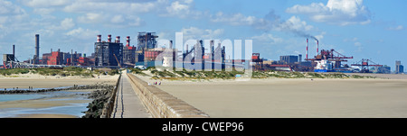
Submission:
M 209 115 L 128 73 L 137 95 L 154 118 L 208 118 Z

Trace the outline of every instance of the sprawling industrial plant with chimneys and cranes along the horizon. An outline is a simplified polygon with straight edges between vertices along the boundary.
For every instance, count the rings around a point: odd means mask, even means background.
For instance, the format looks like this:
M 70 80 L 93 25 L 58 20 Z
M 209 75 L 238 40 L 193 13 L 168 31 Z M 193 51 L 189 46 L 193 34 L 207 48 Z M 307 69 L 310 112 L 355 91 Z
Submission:
M 345 56 L 334 49 L 319 50 L 317 41 L 317 54 L 308 58 L 308 39 L 306 56 L 302 54 L 283 55 L 279 60 L 260 58 L 260 53 L 252 53 L 250 62 L 245 59 L 226 59 L 225 46 L 221 42 L 209 41 L 209 49 L 204 48 L 204 41 L 198 40 L 194 45 L 186 45 L 185 50 L 175 49 L 173 41 L 168 46 L 158 45 L 156 32 L 138 32 L 137 46 L 130 45 L 130 36 L 126 36 L 126 45 L 120 42 L 120 36 L 112 41 L 111 34 L 107 41 L 102 35 L 96 35 L 94 52 L 87 56 L 74 50 L 63 52 L 54 50 L 40 56 L 40 35 L 34 35 L 35 55 L 33 59 L 19 61 L 15 58 L 15 45 L 12 54 L 3 55 L 1 68 L 63 68 L 69 66 L 81 68 L 133 68 L 135 66 L 187 69 L 224 69 L 224 68 L 252 68 L 254 70 L 303 71 L 303 72 L 342 72 L 342 73 L 385 73 L 389 74 L 391 68 L 375 63 L 371 59 L 362 59 L 350 66 L 344 64 L 352 56 Z M 215 46 L 216 44 L 216 46 Z M 192 48 L 190 48 L 192 47 Z M 179 63 L 177 63 L 179 62 Z M 182 65 L 182 66 L 180 66 Z M 208 67 L 210 66 L 210 67 Z M 396 61 L 395 74 L 403 73 L 401 61 Z

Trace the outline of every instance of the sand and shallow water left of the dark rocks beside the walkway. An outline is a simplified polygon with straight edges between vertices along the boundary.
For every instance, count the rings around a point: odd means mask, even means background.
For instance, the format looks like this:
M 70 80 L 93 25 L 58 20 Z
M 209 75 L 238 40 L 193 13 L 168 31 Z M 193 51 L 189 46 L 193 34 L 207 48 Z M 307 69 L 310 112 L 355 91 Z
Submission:
M 33 75 L 33 74 L 32 74 Z M 52 77 L 52 76 L 48 76 Z M 33 88 L 57 88 L 62 86 L 113 86 L 116 84 L 118 75 L 91 77 L 91 78 L 37 78 L 37 77 L 0 77 L 0 90 L 6 88 L 19 87 L 19 89 L 27 89 L 28 86 Z M 66 89 L 66 88 L 64 88 Z M 73 89 L 73 90 L 72 90 Z M 0 102 L 0 116 L 11 118 L 80 118 L 85 115 L 88 110 L 87 106 L 92 102 L 88 98 L 95 90 L 100 88 L 82 88 L 71 90 L 60 90 L 51 92 L 30 92 L 15 95 L 49 95 L 36 99 L 12 100 Z M 52 90 L 52 89 L 51 89 Z M 57 89 L 55 89 L 57 90 Z M 0 94 L 1 95 L 1 94 Z M 14 94 L 4 94 L 14 95 Z M 82 113 L 83 112 L 83 113 Z

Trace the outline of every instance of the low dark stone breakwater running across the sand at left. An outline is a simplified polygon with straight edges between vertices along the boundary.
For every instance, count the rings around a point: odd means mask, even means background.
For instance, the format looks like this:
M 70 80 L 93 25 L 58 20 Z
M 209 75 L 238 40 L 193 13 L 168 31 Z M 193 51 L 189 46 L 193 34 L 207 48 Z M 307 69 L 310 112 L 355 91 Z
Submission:
M 68 86 L 63 88 L 46 88 L 46 89 L 37 89 L 37 90 L 30 90 L 30 89 L 14 89 L 14 90 L 6 90 L 0 91 L 0 95 L 2 94 L 24 94 L 24 93 L 44 93 L 44 92 L 53 92 L 53 91 L 66 91 L 66 90 L 85 90 L 85 89 L 106 89 L 111 88 L 112 86 L 103 85 L 103 84 L 95 84 L 95 85 L 86 85 L 86 86 Z

